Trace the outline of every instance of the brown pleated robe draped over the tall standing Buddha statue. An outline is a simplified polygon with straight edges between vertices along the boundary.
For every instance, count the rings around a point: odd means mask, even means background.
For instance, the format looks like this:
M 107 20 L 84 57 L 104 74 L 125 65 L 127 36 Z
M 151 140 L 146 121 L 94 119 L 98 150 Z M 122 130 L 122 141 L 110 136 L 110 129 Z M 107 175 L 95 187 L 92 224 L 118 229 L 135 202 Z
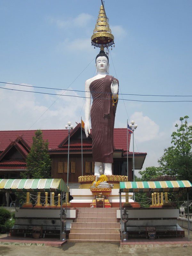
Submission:
M 111 82 L 113 79 L 117 80 L 107 75 L 90 84 L 93 98 L 90 116 L 94 162 L 113 163 L 113 130 L 117 107 L 117 102 L 113 106 L 112 101 Z

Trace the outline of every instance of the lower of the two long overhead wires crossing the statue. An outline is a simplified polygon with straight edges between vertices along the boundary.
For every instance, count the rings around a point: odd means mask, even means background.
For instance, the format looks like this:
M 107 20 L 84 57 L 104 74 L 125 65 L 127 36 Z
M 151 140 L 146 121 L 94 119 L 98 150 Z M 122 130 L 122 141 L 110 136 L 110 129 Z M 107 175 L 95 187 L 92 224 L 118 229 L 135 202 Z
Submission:
M 33 93 L 40 93 L 40 94 L 48 94 L 48 95 L 57 95 L 57 96 L 68 96 L 68 97 L 77 97 L 77 98 L 89 98 L 90 97 L 85 97 L 85 96 L 77 96 L 77 95 L 64 95 L 64 94 L 56 94 L 56 93 L 48 93 L 48 92 L 34 92 L 34 91 L 25 91 L 25 90 L 17 90 L 17 89 L 10 89 L 10 88 L 5 88 L 5 87 L 0 87 L 0 89 L 5 89 L 5 90 L 10 90 L 10 91 L 18 91 L 18 92 L 33 92 Z M 64 93 L 64 92 L 63 92 Z M 58 97 L 56 100 L 58 100 L 60 97 Z M 100 99 L 100 100 L 107 100 L 106 98 L 92 98 L 92 99 Z M 56 101 L 55 100 L 55 101 Z M 127 100 L 127 101 L 138 101 L 138 102 L 192 102 L 192 100 L 129 100 L 129 99 L 121 99 L 118 98 L 118 100 Z M 55 101 L 52 103 L 52 105 L 55 103 Z M 51 105 L 51 106 L 52 106 Z M 51 107 L 50 106 L 50 107 Z M 50 108 L 49 107 L 49 108 Z M 48 108 L 48 109 L 49 109 Z M 48 110 L 47 109 L 47 110 Z M 46 110 L 46 111 L 47 111 Z M 45 112 L 46 112 L 45 111 Z

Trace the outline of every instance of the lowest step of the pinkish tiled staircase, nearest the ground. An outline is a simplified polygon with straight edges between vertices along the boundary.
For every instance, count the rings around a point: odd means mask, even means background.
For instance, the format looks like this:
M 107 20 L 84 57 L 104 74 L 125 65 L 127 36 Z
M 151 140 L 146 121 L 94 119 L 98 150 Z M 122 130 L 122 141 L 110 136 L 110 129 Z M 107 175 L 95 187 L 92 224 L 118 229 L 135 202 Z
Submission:
M 119 234 L 69 234 L 69 240 L 74 239 L 85 239 L 85 240 L 119 240 L 120 241 L 120 233 Z

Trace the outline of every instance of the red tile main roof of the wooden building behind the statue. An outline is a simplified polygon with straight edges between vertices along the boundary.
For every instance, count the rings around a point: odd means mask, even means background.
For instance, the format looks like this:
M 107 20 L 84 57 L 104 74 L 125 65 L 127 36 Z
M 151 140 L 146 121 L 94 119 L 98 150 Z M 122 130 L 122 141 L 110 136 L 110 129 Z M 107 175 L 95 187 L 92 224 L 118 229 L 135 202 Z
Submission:
M 74 131 L 71 132 L 70 137 L 77 134 L 77 130 L 81 129 L 81 125 L 77 124 L 74 128 Z M 11 143 L 18 138 L 18 136 L 22 137 L 23 143 L 27 143 L 30 147 L 32 144 L 32 137 L 35 136 L 36 130 L 30 131 L 0 131 L 0 152 L 4 151 Z M 44 140 L 49 141 L 49 151 L 65 151 L 68 149 L 68 130 L 42 130 Z M 128 149 L 130 145 L 131 134 L 128 133 Z M 81 150 L 81 141 L 71 140 L 72 144 L 70 143 L 70 150 Z M 21 141 L 22 142 L 22 141 Z M 63 145 L 63 146 L 61 146 Z M 115 128 L 114 129 L 114 145 L 117 150 L 127 151 L 127 129 L 126 128 Z M 59 147 L 61 146 L 61 147 Z M 24 148 L 19 144 L 23 153 L 25 152 Z M 91 144 L 91 137 L 87 139 L 83 139 L 83 149 L 90 150 L 92 147 Z M 126 154 L 126 152 L 124 153 Z M 136 154 L 136 153 L 135 153 Z M 140 154 L 140 153 L 138 153 Z M 142 153 L 143 154 L 143 153 Z M 146 154 L 146 153 L 145 153 Z

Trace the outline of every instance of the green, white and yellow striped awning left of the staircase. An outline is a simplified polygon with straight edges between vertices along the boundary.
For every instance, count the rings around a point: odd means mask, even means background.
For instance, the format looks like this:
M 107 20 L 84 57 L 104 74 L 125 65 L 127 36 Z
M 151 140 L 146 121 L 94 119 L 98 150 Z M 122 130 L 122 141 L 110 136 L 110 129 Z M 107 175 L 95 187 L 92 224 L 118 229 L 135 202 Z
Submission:
M 67 184 L 62 179 L 0 179 L 0 191 L 64 191 Z

